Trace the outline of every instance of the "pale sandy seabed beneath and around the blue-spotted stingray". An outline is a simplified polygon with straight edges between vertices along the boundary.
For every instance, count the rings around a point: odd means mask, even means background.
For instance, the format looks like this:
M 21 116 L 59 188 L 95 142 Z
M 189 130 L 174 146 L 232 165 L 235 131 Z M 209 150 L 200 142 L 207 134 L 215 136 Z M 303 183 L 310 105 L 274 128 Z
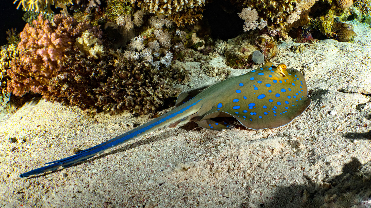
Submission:
M 271 61 L 304 73 L 312 104 L 276 129 L 161 128 L 24 179 L 152 119 L 89 117 L 34 98 L 0 121 L 0 207 L 371 207 L 371 29 L 352 24 L 354 43 L 279 45 Z M 209 64 L 228 69 L 223 57 Z M 200 63 L 184 66 L 192 76 L 185 91 L 216 83 Z

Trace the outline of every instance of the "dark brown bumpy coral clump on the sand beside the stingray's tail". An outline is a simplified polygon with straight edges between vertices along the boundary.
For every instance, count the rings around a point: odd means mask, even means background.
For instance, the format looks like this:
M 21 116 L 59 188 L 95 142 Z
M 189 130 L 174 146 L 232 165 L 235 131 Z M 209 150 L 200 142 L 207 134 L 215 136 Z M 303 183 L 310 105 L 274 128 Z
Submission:
M 50 80 L 47 100 L 85 109 L 115 112 L 128 110 L 139 114 L 157 111 L 164 100 L 178 91 L 171 86 L 184 75 L 175 70 L 158 70 L 144 61 L 130 61 L 120 53 L 111 53 L 107 60 L 94 60 L 73 47 L 58 76 Z M 116 57 L 116 58 L 114 58 Z M 55 96 L 55 93 L 59 93 Z

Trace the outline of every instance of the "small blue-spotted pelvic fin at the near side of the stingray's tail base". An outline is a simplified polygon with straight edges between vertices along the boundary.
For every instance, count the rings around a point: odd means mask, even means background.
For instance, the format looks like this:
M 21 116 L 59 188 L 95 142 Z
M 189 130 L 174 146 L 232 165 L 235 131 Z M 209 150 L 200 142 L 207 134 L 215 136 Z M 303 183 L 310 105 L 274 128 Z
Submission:
M 233 122 L 236 121 L 232 115 L 224 113 L 222 111 L 217 111 L 209 113 L 201 118 L 200 121 L 196 123 L 203 128 L 212 129 L 212 130 L 223 130 L 231 129 L 235 126 Z

